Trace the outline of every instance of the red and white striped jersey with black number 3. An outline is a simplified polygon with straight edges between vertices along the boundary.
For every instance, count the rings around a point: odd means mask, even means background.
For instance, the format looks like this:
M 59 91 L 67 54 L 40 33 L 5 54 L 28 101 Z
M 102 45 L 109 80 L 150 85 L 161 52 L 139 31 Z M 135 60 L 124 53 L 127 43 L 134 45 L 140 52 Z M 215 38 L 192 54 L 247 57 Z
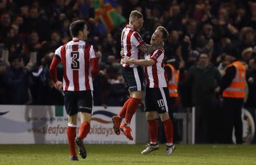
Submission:
M 95 46 L 82 40 L 72 40 L 57 48 L 55 54 L 63 64 L 64 91 L 93 90 L 90 61 L 97 58 Z

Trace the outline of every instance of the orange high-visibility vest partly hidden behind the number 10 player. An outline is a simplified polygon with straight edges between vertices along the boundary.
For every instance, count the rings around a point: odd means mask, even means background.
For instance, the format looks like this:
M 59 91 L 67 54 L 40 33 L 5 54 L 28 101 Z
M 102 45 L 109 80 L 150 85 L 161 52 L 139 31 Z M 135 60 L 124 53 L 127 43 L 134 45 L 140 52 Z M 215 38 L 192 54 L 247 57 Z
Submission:
M 179 70 L 176 70 L 175 67 L 171 64 L 166 64 L 165 66 L 168 66 L 171 68 L 172 71 L 172 78 L 168 81 L 168 90 L 169 90 L 169 96 L 172 98 L 177 98 L 179 95 L 177 92 L 177 85 L 179 82 Z

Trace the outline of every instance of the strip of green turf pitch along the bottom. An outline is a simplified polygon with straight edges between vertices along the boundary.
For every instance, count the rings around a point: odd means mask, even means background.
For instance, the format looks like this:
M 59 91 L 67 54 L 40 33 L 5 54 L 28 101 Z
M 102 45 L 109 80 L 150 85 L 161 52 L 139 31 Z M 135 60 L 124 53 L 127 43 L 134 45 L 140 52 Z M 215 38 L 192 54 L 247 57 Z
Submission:
M 256 145 L 176 145 L 141 155 L 144 145 L 86 145 L 87 158 L 69 160 L 68 145 L 0 145 L 0 164 L 256 164 Z

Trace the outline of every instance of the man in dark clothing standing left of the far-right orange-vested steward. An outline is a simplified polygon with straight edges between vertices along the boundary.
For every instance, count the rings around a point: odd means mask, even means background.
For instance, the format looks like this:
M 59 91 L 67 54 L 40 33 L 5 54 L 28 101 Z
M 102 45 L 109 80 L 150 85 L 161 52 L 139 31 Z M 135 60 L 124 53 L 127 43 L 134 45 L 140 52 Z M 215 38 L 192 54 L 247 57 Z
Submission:
M 192 105 L 195 106 L 195 142 L 214 143 L 217 135 L 215 92 L 219 89 L 221 75 L 209 64 L 209 54 L 200 53 L 199 61 L 188 70 L 187 85 L 192 91 Z

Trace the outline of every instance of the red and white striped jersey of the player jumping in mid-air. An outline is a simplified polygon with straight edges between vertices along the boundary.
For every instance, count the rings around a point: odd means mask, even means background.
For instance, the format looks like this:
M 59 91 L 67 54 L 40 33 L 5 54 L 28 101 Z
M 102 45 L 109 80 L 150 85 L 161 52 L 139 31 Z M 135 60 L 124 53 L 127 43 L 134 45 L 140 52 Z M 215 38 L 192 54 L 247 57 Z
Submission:
M 141 59 L 143 58 L 143 53 L 139 50 L 139 46 L 144 44 L 144 41 L 139 35 L 138 32 L 135 32 L 128 25 L 123 28 L 122 36 L 121 36 L 121 45 L 123 48 L 123 52 L 125 57 L 130 57 L 133 59 Z M 137 67 L 135 64 L 123 64 L 124 67 Z

